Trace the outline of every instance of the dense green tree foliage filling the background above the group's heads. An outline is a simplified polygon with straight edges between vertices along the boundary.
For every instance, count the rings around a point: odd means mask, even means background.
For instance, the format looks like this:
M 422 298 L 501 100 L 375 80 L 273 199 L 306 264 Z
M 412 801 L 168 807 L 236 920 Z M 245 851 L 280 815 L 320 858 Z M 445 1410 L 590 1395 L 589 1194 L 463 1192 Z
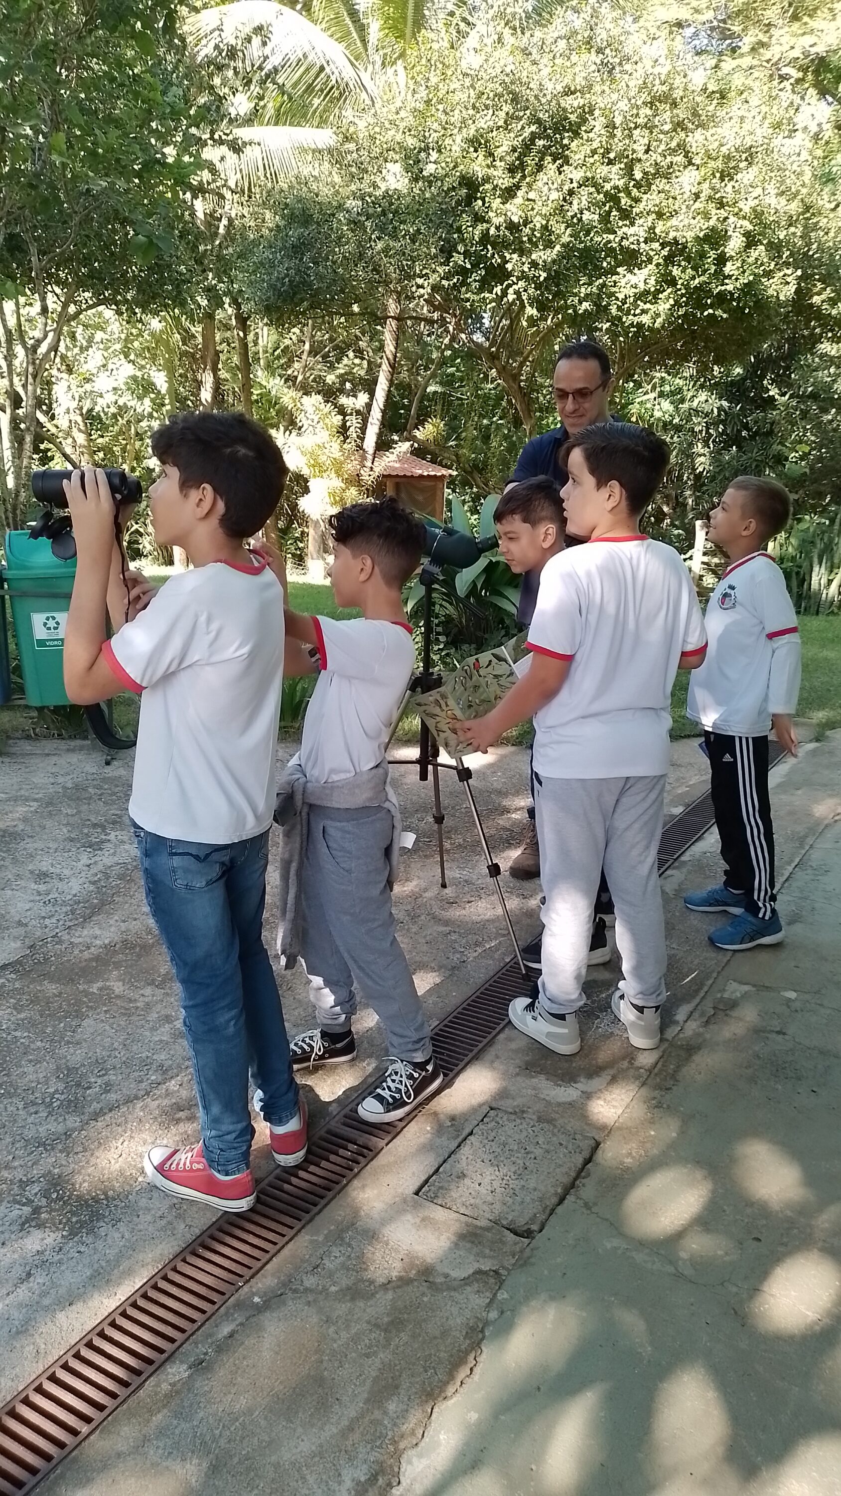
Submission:
M 672 444 L 654 533 L 689 552 L 727 477 L 772 473 L 798 606 L 840 606 L 834 0 L 202 10 L 4 7 L 6 522 L 31 465 L 148 479 L 149 429 L 202 402 L 281 432 L 300 562 L 403 438 L 478 524 L 589 334 Z M 143 516 L 131 545 L 161 560 Z M 453 640 L 503 627 L 503 583 L 453 580 Z

